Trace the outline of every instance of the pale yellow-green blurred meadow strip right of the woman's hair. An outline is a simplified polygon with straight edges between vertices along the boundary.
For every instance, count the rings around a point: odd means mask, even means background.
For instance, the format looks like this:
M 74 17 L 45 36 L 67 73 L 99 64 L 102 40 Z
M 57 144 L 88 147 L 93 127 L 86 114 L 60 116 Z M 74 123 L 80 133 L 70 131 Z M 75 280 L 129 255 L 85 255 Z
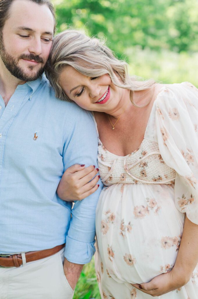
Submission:
M 153 78 L 161 83 L 181 83 L 189 81 L 198 86 L 198 53 L 159 52 L 139 47 L 128 48 L 123 55 L 129 57 L 130 74 Z

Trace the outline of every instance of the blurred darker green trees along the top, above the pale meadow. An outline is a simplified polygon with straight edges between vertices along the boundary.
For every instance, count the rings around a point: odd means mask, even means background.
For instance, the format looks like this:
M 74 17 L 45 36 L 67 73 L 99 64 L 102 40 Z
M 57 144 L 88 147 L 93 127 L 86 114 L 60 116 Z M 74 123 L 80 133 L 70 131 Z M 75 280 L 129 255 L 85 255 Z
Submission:
M 181 52 L 198 50 L 197 0 L 54 0 L 58 30 L 84 28 L 107 37 L 120 57 L 139 45 Z

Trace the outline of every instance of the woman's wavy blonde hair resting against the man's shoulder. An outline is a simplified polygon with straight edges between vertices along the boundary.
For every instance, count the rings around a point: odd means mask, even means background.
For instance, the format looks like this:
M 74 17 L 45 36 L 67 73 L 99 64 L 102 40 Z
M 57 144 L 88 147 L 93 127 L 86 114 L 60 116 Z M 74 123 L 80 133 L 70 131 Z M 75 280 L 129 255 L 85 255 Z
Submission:
M 127 62 L 117 59 L 105 41 L 79 30 L 66 30 L 55 36 L 45 70 L 56 96 L 71 101 L 60 86 L 60 75 L 67 65 L 89 77 L 109 74 L 113 84 L 131 91 L 131 101 L 134 91 L 148 89 L 155 83 L 154 80 L 140 81 L 136 76 L 130 76 Z

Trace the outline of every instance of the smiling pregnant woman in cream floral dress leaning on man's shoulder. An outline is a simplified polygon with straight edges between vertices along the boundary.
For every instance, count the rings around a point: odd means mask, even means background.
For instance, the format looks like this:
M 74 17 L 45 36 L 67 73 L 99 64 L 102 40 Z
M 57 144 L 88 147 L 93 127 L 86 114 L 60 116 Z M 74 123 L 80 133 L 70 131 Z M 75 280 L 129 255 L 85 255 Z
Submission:
M 101 297 L 198 299 L 198 90 L 138 81 L 75 30 L 55 37 L 46 73 L 58 97 L 94 111 Z

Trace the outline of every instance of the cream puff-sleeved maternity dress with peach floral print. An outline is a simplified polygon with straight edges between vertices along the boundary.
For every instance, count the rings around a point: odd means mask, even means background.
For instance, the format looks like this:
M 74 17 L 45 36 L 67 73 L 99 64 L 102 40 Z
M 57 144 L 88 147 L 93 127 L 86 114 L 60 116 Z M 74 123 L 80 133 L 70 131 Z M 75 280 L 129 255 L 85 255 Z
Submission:
M 130 155 L 99 140 L 106 187 L 96 210 L 96 274 L 103 299 L 149 299 L 131 283 L 174 266 L 185 215 L 198 224 L 198 90 L 167 85 L 157 95 L 144 140 Z M 161 299 L 198 299 L 198 267 L 182 288 Z

